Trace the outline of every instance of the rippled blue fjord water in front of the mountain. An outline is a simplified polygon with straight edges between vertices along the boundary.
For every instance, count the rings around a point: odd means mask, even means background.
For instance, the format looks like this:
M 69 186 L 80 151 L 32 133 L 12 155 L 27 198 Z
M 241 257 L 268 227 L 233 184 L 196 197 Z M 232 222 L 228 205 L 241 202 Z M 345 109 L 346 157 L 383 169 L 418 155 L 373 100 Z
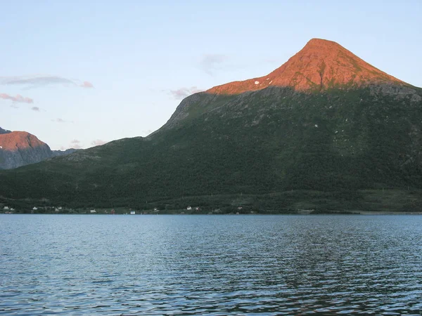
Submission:
M 422 216 L 1 215 L 1 315 L 419 315 Z

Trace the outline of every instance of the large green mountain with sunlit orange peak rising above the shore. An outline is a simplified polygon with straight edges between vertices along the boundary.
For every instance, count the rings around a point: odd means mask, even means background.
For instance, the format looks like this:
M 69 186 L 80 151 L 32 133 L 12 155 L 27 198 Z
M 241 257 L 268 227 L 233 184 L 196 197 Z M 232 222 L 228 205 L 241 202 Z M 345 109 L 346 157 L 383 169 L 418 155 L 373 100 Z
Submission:
M 312 39 L 267 76 L 188 96 L 146 138 L 1 171 L 0 195 L 71 207 L 419 211 L 421 108 L 421 88 Z

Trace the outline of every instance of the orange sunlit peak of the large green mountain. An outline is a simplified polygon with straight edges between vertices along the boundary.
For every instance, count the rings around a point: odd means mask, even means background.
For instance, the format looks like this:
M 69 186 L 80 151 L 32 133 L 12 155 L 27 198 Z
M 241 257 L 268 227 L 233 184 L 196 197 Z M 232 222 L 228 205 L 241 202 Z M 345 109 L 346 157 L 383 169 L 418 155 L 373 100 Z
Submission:
M 281 67 L 264 77 L 215 86 L 207 92 L 238 94 L 269 86 L 288 86 L 296 91 L 321 91 L 331 87 L 369 84 L 407 85 L 326 39 L 311 39 Z

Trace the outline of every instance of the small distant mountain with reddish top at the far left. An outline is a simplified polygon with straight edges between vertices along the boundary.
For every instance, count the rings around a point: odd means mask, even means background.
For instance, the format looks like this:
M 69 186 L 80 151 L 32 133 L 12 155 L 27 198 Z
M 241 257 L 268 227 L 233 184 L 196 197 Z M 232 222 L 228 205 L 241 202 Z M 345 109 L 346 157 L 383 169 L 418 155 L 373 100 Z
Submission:
M 75 150 L 51 150 L 49 145 L 25 131 L 0 128 L 0 169 L 18 168 L 72 152 Z

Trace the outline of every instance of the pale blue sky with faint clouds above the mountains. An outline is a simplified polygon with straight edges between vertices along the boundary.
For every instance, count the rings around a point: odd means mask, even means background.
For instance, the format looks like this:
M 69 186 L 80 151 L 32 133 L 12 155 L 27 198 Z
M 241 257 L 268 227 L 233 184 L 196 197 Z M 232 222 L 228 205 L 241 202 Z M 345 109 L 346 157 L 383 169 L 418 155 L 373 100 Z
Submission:
M 0 127 L 52 150 L 147 136 L 312 38 L 422 87 L 422 1 L 0 0 Z

